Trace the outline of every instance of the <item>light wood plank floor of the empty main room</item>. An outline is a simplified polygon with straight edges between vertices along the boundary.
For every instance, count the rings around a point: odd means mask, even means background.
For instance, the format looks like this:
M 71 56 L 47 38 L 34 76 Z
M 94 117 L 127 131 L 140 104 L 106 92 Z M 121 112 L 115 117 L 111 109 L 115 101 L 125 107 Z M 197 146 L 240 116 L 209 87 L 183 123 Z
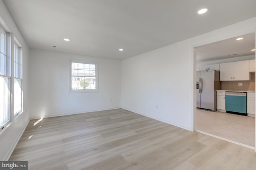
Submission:
M 10 160 L 30 170 L 249 170 L 256 153 L 124 109 L 32 120 Z

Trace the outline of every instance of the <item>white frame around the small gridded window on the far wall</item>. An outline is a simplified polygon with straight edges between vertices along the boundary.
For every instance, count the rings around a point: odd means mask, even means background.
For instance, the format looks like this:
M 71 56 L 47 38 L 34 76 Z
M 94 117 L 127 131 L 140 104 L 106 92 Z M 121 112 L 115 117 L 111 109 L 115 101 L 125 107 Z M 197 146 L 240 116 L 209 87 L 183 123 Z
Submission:
M 81 64 L 95 64 L 95 89 L 72 89 L 72 63 L 81 63 Z M 98 62 L 94 61 L 81 61 L 81 60 L 69 60 L 69 93 L 90 93 L 90 92 L 99 92 L 99 74 L 98 74 Z

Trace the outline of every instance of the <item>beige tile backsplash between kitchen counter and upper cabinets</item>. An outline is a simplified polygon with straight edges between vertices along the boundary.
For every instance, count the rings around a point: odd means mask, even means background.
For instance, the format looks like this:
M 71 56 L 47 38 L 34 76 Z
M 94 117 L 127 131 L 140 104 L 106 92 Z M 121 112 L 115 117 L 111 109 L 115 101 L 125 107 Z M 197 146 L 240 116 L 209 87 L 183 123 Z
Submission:
M 252 78 L 250 81 L 222 81 L 221 90 L 246 90 L 255 91 L 255 72 L 251 73 Z M 243 83 L 238 86 L 238 83 Z

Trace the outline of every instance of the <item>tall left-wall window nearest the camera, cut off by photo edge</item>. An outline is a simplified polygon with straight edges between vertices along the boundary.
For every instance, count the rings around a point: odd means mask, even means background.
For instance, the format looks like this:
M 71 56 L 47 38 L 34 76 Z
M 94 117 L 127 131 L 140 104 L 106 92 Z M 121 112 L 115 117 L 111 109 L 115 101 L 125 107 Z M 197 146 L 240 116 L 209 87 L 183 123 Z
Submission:
M 7 55 L 7 35 L 0 28 L 0 128 L 10 121 L 10 57 Z M 0 130 L 1 130 L 0 129 Z

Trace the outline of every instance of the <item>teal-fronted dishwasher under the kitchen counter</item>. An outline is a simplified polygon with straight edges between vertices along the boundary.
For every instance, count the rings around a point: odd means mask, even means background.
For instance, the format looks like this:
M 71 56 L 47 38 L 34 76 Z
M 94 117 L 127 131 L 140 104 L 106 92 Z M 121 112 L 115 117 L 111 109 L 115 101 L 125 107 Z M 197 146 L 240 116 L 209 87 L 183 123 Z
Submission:
M 245 92 L 226 92 L 226 112 L 239 115 L 246 115 L 246 93 Z

